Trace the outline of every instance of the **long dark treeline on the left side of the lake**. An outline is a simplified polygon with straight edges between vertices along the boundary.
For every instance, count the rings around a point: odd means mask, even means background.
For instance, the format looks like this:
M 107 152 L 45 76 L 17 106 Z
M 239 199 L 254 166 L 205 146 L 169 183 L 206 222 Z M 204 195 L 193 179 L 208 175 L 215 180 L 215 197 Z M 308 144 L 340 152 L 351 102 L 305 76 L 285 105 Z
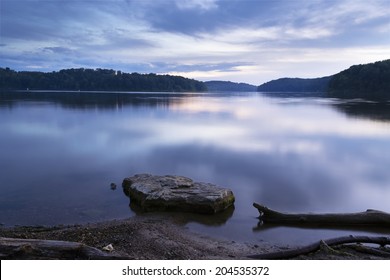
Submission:
M 207 86 L 180 76 L 129 74 L 109 69 L 79 68 L 45 73 L 0 68 L 0 89 L 199 92 L 207 91 Z

